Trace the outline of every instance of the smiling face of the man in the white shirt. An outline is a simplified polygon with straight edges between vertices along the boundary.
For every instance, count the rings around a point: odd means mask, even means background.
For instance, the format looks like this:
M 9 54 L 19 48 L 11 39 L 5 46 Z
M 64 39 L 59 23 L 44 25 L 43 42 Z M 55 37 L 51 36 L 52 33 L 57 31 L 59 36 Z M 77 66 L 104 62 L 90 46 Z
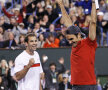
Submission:
M 29 51 L 35 51 L 37 48 L 37 38 L 35 36 L 28 37 L 27 47 Z

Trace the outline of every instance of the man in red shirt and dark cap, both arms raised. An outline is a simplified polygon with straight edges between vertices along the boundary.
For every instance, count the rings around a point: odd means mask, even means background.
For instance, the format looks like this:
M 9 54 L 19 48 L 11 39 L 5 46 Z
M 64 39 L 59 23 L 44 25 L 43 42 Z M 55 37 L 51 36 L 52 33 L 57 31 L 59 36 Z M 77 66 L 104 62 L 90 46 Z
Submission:
M 94 71 L 96 43 L 96 6 L 92 0 L 91 21 L 89 35 L 82 39 L 82 32 L 78 26 L 72 25 L 72 21 L 65 11 L 62 0 L 57 0 L 65 25 L 68 27 L 66 37 L 72 45 L 71 52 L 71 84 L 72 90 L 97 90 Z

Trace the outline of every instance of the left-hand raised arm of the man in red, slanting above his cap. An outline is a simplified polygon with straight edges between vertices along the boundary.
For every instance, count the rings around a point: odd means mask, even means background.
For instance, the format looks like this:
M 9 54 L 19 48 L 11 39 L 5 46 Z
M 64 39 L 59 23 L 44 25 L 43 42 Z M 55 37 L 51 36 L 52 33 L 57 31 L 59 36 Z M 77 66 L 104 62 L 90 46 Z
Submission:
M 57 3 L 59 4 L 60 8 L 61 8 L 61 12 L 62 12 L 62 17 L 63 17 L 63 21 L 66 27 L 70 27 L 72 26 L 72 20 L 70 19 L 69 15 L 67 14 L 63 2 L 62 0 L 56 0 Z

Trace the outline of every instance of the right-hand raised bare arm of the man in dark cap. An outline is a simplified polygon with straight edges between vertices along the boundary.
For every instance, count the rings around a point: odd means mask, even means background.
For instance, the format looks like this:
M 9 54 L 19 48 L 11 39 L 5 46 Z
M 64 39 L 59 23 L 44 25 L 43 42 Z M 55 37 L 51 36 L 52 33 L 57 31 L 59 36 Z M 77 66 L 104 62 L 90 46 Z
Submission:
M 95 0 L 92 0 L 91 21 L 89 26 L 89 38 L 92 41 L 96 39 L 96 18 Z

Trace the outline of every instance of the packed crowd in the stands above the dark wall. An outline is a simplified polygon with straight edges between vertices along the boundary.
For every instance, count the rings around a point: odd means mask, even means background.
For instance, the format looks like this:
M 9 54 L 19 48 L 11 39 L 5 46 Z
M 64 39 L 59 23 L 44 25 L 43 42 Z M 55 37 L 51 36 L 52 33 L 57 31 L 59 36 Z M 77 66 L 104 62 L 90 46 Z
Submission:
M 88 36 L 91 20 L 91 0 L 63 0 L 65 9 L 75 26 Z M 98 46 L 108 46 L 108 4 L 99 0 L 97 10 Z M 12 6 L 12 8 L 9 8 Z M 60 8 L 55 0 L 12 0 L 0 3 L 0 48 L 24 49 L 25 35 L 34 32 L 38 48 L 70 46 L 66 40 Z

